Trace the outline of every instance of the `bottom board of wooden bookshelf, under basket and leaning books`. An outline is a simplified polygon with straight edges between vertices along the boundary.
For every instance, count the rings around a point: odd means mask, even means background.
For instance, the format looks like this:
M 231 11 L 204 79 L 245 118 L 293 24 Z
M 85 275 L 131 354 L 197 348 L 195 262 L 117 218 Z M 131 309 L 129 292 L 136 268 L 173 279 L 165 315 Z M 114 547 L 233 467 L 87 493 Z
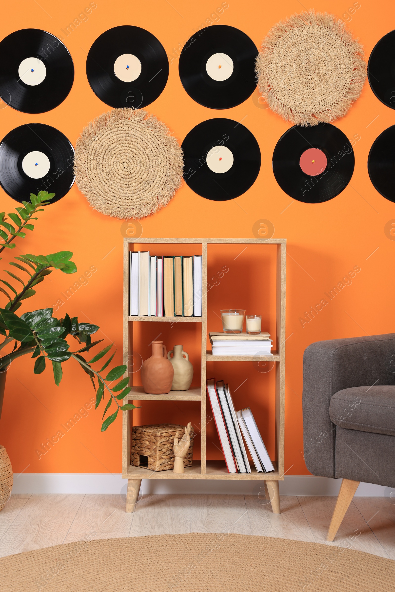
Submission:
M 270 473 L 258 473 L 255 467 L 251 467 L 251 473 L 228 473 L 225 461 L 206 461 L 205 475 L 200 473 L 200 461 L 192 461 L 192 466 L 186 466 L 184 473 L 176 474 L 173 471 L 149 471 L 141 466 L 129 466 L 123 479 L 223 479 L 245 481 L 283 481 L 284 475 L 280 475 L 277 463 L 273 462 L 275 470 Z

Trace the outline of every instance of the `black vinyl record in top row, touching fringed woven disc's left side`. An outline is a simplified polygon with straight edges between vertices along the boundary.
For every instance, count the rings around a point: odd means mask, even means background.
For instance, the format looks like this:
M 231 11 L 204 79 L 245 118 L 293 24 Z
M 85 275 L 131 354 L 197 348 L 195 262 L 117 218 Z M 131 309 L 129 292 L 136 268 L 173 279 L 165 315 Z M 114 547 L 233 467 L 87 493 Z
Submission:
M 239 105 L 256 88 L 253 41 L 235 27 L 213 25 L 198 31 L 179 56 L 182 86 L 194 101 L 211 109 Z

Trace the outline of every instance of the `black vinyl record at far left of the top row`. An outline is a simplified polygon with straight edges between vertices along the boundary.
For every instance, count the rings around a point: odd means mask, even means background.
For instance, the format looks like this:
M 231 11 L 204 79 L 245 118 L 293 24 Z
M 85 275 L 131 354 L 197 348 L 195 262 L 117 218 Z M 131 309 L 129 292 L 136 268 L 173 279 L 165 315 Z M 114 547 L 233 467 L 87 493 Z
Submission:
M 44 113 L 60 105 L 74 81 L 66 46 L 41 29 L 21 29 L 0 42 L 0 96 L 24 113 Z

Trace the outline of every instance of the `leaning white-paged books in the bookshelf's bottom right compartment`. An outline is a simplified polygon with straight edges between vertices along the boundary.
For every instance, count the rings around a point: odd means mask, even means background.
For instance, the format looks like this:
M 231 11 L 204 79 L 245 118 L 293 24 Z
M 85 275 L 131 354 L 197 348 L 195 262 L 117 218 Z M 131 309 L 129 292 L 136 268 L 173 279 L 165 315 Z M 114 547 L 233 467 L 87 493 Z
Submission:
M 242 434 L 256 471 L 265 473 L 274 471 L 274 466 L 266 451 L 255 419 L 253 419 L 251 409 L 247 407 L 241 411 L 235 411 L 229 385 L 224 384 L 223 380 L 216 382 L 215 378 L 210 378 L 207 381 L 207 394 L 213 410 L 227 471 L 229 473 L 251 473 Z

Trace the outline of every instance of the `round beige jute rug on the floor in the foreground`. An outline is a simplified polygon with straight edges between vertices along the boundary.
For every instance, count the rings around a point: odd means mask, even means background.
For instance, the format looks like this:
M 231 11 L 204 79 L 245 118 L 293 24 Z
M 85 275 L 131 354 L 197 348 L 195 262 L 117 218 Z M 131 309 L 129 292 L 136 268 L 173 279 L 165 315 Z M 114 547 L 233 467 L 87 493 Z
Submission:
M 100 539 L 0 559 L 3 592 L 381 592 L 395 561 L 265 536 Z

